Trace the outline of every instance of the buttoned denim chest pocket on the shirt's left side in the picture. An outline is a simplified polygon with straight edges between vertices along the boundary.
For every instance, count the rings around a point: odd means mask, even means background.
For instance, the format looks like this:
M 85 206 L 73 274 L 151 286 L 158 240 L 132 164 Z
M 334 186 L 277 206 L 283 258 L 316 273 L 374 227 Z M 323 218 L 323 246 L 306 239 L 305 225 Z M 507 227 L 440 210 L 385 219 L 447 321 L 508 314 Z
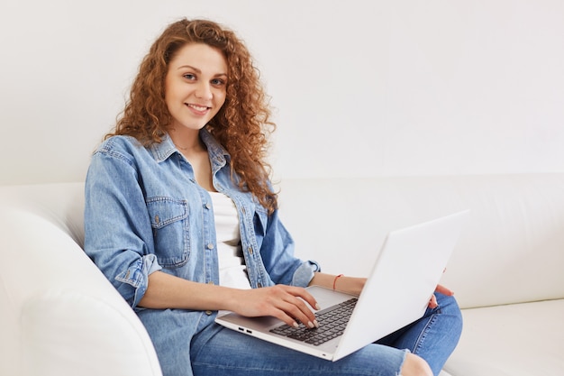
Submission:
M 147 209 L 159 265 L 171 269 L 186 264 L 190 256 L 186 201 L 170 197 L 150 197 L 147 199 Z

